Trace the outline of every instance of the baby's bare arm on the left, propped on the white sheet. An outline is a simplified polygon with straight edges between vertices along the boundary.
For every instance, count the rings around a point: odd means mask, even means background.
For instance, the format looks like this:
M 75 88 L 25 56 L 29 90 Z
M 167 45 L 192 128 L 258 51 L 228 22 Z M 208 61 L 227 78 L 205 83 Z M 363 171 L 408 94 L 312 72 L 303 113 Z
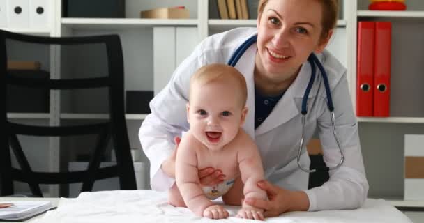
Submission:
M 213 203 L 206 198 L 199 183 L 197 169 L 196 144 L 187 133 L 179 145 L 176 153 L 175 176 L 185 205 L 197 215 L 203 216 L 204 210 Z

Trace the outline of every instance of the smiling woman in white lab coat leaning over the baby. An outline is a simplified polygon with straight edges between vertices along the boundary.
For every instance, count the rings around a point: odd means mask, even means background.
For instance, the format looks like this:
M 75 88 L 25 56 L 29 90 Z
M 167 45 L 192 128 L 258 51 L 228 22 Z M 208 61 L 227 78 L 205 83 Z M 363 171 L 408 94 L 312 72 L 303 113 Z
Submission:
M 151 161 L 151 186 L 167 190 L 174 183 L 174 137 L 188 130 L 185 103 L 190 75 L 208 63 L 227 63 L 239 45 L 257 34 L 257 43 L 241 56 L 236 68 L 248 87 L 248 116 L 243 129 L 255 139 L 262 156 L 267 181 L 258 185 L 269 201 L 246 203 L 264 208 L 265 217 L 294 210 L 358 208 L 365 201 L 368 182 L 358 140 L 356 116 L 346 78 L 346 69 L 326 47 L 337 22 L 337 0 L 260 0 L 257 28 L 240 28 L 206 38 L 175 70 L 169 84 L 152 101 L 139 138 Z M 345 154 L 342 167 L 330 171 L 321 187 L 308 190 L 308 174 L 296 163 L 300 144 L 301 101 L 310 80 L 307 59 L 315 53 L 330 82 L 335 107 L 335 130 Z M 330 112 L 321 75 L 317 75 L 308 97 L 305 141 L 317 133 L 327 166 L 340 161 L 333 137 Z M 178 145 L 178 140 L 176 140 Z M 305 150 L 303 150 L 305 151 Z M 301 156 L 309 166 L 307 153 Z M 219 169 L 199 171 L 204 185 L 220 183 Z M 241 190 L 236 180 L 232 190 Z M 240 199 L 242 199 L 240 192 Z M 234 203 L 239 204 L 239 203 Z

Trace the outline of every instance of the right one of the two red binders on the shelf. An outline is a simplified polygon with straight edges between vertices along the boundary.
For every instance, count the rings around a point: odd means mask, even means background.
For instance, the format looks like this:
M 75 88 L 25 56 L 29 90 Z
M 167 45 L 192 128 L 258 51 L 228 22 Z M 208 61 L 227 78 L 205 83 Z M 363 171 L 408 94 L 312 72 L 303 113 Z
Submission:
M 374 116 L 390 114 L 391 22 L 375 23 Z

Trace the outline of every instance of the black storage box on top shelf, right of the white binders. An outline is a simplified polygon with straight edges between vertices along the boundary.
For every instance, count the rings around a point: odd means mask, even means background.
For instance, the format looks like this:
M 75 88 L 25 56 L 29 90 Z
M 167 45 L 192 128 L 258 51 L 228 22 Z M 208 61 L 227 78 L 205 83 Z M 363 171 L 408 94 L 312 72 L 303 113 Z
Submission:
M 65 17 L 123 18 L 125 0 L 65 0 Z

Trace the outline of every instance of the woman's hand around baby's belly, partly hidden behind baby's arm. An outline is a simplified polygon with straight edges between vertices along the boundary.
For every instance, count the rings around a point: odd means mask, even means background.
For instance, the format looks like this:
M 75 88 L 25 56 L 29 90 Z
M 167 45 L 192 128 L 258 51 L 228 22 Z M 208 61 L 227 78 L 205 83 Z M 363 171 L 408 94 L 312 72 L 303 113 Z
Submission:
M 175 148 L 174 151 L 172 151 L 172 154 L 162 162 L 162 171 L 167 174 L 167 176 L 171 178 L 175 178 L 175 158 L 176 158 L 176 151 L 178 150 L 178 146 L 180 144 L 181 138 L 175 137 Z M 222 171 L 219 169 L 213 169 L 212 167 L 207 167 L 205 169 L 199 170 L 199 180 L 200 184 L 202 186 L 213 186 L 217 185 L 218 183 L 222 183 L 225 179 L 225 175 L 222 174 Z

